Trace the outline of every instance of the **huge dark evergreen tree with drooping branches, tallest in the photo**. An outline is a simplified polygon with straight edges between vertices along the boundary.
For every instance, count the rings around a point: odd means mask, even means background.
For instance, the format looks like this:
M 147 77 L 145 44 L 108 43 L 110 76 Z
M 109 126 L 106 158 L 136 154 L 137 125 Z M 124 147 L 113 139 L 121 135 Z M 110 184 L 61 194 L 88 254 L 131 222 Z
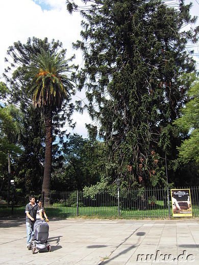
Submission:
M 78 89 L 85 88 L 89 114 L 110 147 L 114 178 L 121 175 L 128 188 L 164 185 L 164 152 L 171 176 L 179 144 L 172 126 L 186 92 L 179 77 L 195 69 L 186 44 L 197 41 L 198 28 L 183 31 L 196 20 L 191 4 L 180 1 L 175 9 L 156 0 L 82 2 L 88 8 L 67 1 L 68 11 L 84 18 L 82 40 L 73 43 L 85 60 Z

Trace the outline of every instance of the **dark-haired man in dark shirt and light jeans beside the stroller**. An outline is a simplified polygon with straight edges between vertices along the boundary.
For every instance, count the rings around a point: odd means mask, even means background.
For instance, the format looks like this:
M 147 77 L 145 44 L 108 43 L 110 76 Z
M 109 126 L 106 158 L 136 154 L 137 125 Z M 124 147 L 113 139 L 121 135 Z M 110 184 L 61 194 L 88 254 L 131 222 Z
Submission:
M 43 220 L 42 212 L 38 204 L 35 203 L 35 197 L 29 197 L 30 202 L 26 205 L 26 231 L 27 231 L 27 248 L 31 249 L 31 233 L 36 221 L 37 211 L 39 211 L 40 218 Z

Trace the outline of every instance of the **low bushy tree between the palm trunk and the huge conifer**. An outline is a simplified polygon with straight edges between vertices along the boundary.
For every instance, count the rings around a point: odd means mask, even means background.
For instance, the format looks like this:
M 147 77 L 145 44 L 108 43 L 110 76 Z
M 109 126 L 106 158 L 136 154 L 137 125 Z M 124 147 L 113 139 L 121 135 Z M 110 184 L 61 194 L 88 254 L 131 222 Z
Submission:
M 83 139 L 78 134 L 70 135 L 60 151 L 53 160 L 54 190 L 83 190 L 99 181 L 105 187 L 112 179 L 116 165 L 110 164 L 107 159 L 109 152 L 106 144 L 93 135 L 89 139 Z

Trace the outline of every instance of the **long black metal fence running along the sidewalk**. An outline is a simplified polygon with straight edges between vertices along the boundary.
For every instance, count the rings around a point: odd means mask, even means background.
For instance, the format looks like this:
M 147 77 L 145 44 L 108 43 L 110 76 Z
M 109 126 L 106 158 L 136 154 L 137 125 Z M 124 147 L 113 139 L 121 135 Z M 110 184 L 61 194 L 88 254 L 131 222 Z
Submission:
M 198 217 L 199 187 L 184 189 L 190 189 L 193 217 Z M 162 188 L 119 193 L 105 191 L 90 195 L 82 191 L 56 192 L 45 196 L 35 195 L 35 197 L 36 200 L 42 199 L 48 218 L 169 219 L 170 216 L 172 218 L 170 190 L 167 192 Z M 6 195 L 1 194 L 0 217 L 24 216 L 28 202 L 28 197 L 16 196 L 13 191 L 8 203 Z

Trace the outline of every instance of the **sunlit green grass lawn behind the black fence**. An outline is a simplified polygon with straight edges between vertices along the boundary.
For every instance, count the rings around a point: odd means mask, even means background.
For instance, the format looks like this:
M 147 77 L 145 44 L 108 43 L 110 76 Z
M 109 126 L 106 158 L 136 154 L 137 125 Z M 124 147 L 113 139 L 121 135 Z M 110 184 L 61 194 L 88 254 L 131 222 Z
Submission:
M 78 215 L 77 215 L 78 210 Z M 46 215 L 49 218 L 99 218 L 99 219 L 116 219 L 118 218 L 118 207 L 117 206 L 80 206 L 70 207 L 65 206 L 64 203 L 54 203 L 49 207 L 45 207 Z M 198 205 L 192 205 L 193 217 L 198 217 L 199 209 Z M 172 208 L 170 202 L 170 213 L 172 217 Z M 6 204 L 0 205 L 0 216 L 25 216 L 25 206 L 14 205 L 13 213 L 12 207 L 6 206 Z M 151 204 L 147 209 L 136 209 L 136 208 L 124 208 L 120 209 L 119 218 L 121 219 L 168 219 L 168 208 L 164 208 L 163 201 L 157 201 L 153 206 Z

